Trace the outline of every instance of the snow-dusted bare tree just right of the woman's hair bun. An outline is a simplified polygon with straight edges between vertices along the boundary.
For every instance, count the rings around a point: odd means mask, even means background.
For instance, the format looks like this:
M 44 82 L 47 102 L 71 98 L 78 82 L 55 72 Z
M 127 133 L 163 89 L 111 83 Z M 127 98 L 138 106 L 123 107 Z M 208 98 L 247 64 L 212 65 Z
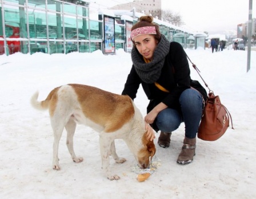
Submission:
M 157 17 L 160 20 L 169 22 L 175 26 L 181 26 L 183 25 L 183 21 L 181 18 L 181 15 L 177 13 L 173 13 L 171 10 L 162 10 L 162 9 L 157 9 L 154 10 L 151 15 L 153 17 Z

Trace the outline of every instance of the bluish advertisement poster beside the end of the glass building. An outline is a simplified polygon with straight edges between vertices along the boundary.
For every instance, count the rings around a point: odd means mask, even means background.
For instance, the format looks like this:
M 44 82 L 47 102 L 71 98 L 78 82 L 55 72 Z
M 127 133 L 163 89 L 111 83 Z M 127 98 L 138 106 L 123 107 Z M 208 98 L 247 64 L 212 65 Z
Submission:
M 104 54 L 115 54 L 115 19 L 104 16 Z

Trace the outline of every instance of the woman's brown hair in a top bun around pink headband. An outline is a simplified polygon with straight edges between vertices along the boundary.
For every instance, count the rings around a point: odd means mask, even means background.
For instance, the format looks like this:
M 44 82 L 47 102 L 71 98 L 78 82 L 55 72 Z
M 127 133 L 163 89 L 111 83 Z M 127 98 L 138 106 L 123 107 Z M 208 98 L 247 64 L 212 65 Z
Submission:
M 156 35 L 153 35 L 154 38 L 159 42 L 161 39 L 161 33 L 159 31 L 159 26 L 155 23 L 153 23 L 153 17 L 151 16 L 142 16 L 139 18 L 139 22 L 135 23 L 133 27 L 131 27 L 131 31 L 138 29 L 139 27 L 145 27 L 145 26 L 155 26 L 155 30 L 157 31 Z M 134 43 L 134 41 L 133 41 Z

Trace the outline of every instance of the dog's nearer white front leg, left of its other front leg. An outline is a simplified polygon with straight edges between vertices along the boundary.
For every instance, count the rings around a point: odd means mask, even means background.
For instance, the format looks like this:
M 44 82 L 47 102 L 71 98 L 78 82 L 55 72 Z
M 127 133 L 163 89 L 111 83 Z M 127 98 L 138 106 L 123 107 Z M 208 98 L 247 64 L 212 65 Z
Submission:
M 110 145 L 112 143 L 112 139 L 106 136 L 106 133 L 102 132 L 99 135 L 99 147 L 101 151 L 101 160 L 102 160 L 102 169 L 105 172 L 107 178 L 109 180 L 119 180 L 120 177 L 117 174 L 112 174 L 110 171 Z

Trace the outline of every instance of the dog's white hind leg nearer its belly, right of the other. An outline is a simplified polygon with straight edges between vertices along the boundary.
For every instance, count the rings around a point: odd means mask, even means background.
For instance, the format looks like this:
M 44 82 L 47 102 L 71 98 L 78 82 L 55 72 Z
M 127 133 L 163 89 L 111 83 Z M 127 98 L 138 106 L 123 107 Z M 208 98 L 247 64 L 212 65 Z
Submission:
M 75 127 L 77 127 L 77 123 L 73 119 L 69 119 L 67 122 L 65 128 L 67 131 L 67 140 L 66 140 L 66 145 L 67 149 L 69 149 L 69 153 L 75 163 L 81 163 L 83 161 L 82 157 L 77 157 L 74 152 L 74 144 L 73 144 L 73 137 L 75 133 Z

